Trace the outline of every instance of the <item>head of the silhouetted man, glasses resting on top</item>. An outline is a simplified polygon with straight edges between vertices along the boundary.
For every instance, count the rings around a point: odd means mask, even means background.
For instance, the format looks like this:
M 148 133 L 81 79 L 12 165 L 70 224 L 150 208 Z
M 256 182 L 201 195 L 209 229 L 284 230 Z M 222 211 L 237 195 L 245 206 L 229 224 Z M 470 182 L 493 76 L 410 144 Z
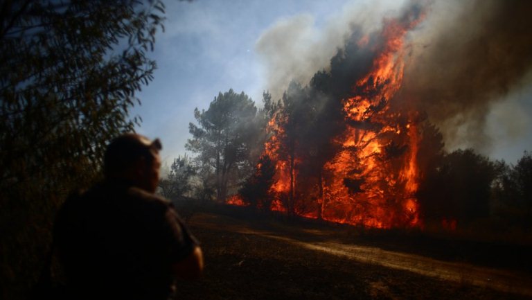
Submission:
M 111 141 L 104 157 L 107 179 L 127 179 L 139 188 L 154 192 L 159 184 L 162 149 L 159 139 L 150 141 L 140 134 L 123 134 Z

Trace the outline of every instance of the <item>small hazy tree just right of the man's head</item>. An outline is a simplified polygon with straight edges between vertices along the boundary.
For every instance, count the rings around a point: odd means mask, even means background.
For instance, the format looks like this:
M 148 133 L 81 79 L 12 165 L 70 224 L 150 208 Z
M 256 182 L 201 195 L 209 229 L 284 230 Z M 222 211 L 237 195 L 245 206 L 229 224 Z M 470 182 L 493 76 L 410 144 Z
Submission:
M 175 200 L 192 190 L 191 179 L 195 175 L 195 167 L 190 164 L 186 155 L 174 159 L 170 173 L 159 180 L 160 193 L 163 197 Z

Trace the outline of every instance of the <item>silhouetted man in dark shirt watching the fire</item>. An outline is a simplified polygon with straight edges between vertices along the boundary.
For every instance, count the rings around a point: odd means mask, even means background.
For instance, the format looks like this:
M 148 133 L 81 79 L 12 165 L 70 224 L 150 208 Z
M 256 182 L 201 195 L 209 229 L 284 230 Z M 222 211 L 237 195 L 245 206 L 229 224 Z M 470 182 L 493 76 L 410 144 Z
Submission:
M 175 277 L 197 279 L 203 256 L 168 200 L 154 195 L 161 143 L 114 139 L 105 180 L 70 197 L 54 235 L 71 299 L 167 299 Z

